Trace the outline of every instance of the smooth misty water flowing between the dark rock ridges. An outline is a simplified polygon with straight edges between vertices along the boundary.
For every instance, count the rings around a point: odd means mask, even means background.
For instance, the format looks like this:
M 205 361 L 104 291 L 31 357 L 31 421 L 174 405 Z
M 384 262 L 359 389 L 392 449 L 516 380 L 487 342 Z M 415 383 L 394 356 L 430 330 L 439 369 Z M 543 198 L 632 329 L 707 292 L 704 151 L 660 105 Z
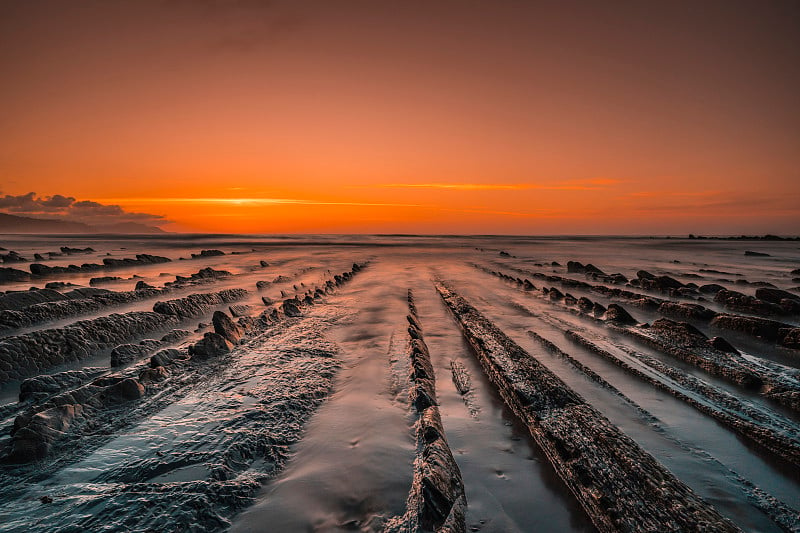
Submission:
M 736 397 L 750 413 L 761 413 L 797 441 L 800 416 L 758 390 L 746 389 L 686 361 L 590 320 L 574 306 L 540 294 L 554 283 L 531 278 L 535 291 L 486 272 L 529 278 L 539 272 L 586 281 L 568 273 L 568 261 L 591 263 L 607 274 L 636 279 L 637 271 L 668 275 L 680 282 L 720 284 L 754 295 L 770 284 L 800 298 L 797 241 L 737 241 L 649 238 L 528 238 L 438 236 L 237 236 L 165 235 L 131 237 L 7 236 L 0 246 L 25 258 L 61 246 L 91 247 L 86 254 L 56 256 L 48 266 L 101 263 L 136 254 L 165 256 L 170 262 L 118 267 L 102 272 L 55 274 L 6 282 L 2 291 L 44 287 L 63 281 L 88 287 L 91 278 L 122 279 L 98 287 L 131 291 L 137 282 L 155 287 L 211 267 L 230 272 L 168 295 L 104 307 L 90 313 L 40 321 L 4 339 L 59 328 L 111 313 L 149 311 L 156 300 L 192 293 L 247 289 L 237 303 L 251 316 L 268 302 L 302 293 L 346 271 L 367 266 L 335 292 L 304 308 L 301 316 L 245 337 L 230 354 L 201 370 L 173 373 L 156 392 L 126 404 L 69 433 L 47 457 L 0 466 L 0 531 L 381 531 L 402 515 L 413 478 L 414 416 L 408 399 L 407 295 L 415 297 L 430 350 L 447 442 L 463 477 L 468 531 L 592 531 L 590 518 L 561 481 L 528 428 L 506 407 L 487 379 L 457 322 L 434 288 L 448 283 L 532 357 L 584 397 L 612 424 L 653 455 L 724 517 L 746 531 L 797 530 L 800 470 L 731 427 L 669 392 L 696 395 L 687 385 L 639 362 L 644 354 Z M 191 258 L 200 250 L 224 255 Z M 745 255 L 745 251 L 764 256 Z M 261 262 L 264 262 L 262 264 Z M 4 264 L 27 270 L 33 261 Z M 483 270 L 482 270 L 483 269 Z M 136 277 L 134 277 L 136 276 Z M 278 276 L 284 276 L 278 278 Z M 272 282 L 275 280 L 275 282 Z M 743 281 L 744 282 L 743 282 Z M 257 289 L 257 281 L 269 281 Z M 607 285 L 602 280 L 589 280 Z M 746 282 L 746 283 L 745 283 Z M 713 295 L 665 295 L 625 287 L 644 295 L 701 303 L 726 311 Z M 68 289 L 59 289 L 68 290 Z M 617 302 L 638 322 L 660 315 L 624 300 L 586 289 L 563 288 L 608 306 Z M 228 304 L 186 319 L 191 336 L 183 348 L 209 330 L 211 314 Z M 798 326 L 800 316 L 778 320 Z M 712 330 L 743 357 L 787 383 L 800 378 L 800 351 L 740 332 Z M 159 338 L 153 330 L 131 338 Z M 654 387 L 598 357 L 564 335 L 577 331 L 665 388 Z M 542 349 L 529 332 L 549 340 L 611 388 L 575 365 Z M 149 355 L 122 368 L 109 367 L 110 349 L 80 360 L 43 368 L 46 374 L 101 367 L 107 375 L 136 372 Z M 463 365 L 471 388 L 461 394 L 452 365 Z M 800 385 L 798 386 L 800 389 Z M 669 389 L 669 390 L 667 390 Z M 29 407 L 18 403 L 20 380 L 0 387 L 3 455 L 12 446 L 15 418 Z M 693 398 L 695 396 L 692 396 Z M 696 396 L 716 408 L 713 399 Z M 299 407 L 297 407 L 299 406 Z M 761 422 L 759 422 L 761 423 Z M 765 422 L 766 423 L 766 422 Z M 78 426 L 76 426 L 78 428 Z M 59 441 L 62 442 L 62 441 Z M 789 517 L 787 519 L 787 517 Z M 794 517 L 793 520 L 791 517 Z

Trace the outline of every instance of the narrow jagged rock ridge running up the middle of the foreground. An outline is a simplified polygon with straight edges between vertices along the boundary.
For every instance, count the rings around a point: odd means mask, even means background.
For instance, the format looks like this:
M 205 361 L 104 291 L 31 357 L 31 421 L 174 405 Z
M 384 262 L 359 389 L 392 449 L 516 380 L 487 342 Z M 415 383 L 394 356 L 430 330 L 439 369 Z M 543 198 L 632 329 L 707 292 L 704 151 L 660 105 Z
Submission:
M 391 519 L 384 531 L 463 533 L 467 508 L 464 482 L 445 438 L 433 365 L 411 291 L 408 303 L 409 399 L 417 414 L 414 478 L 406 513 Z

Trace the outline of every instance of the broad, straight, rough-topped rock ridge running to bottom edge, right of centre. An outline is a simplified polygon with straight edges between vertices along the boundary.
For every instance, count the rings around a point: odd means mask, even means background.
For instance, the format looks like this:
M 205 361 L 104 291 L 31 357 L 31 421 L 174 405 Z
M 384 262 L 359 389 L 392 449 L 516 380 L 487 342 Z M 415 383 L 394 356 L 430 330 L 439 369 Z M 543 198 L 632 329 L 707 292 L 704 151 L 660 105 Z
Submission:
M 466 300 L 436 288 L 506 404 L 600 531 L 738 531 Z

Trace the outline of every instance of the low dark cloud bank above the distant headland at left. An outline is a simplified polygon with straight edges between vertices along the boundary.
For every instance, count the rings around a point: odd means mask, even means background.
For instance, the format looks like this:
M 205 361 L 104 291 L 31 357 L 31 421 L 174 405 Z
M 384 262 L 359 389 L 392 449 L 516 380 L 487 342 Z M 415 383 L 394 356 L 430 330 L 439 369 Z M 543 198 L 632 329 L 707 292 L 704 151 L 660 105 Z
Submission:
M 119 205 L 102 204 L 91 200 L 76 200 L 72 196 L 54 194 L 37 196 L 35 192 L 0 197 L 0 212 L 35 218 L 84 222 L 90 225 L 109 225 L 127 222 L 160 225 L 169 222 L 161 215 L 132 213 Z

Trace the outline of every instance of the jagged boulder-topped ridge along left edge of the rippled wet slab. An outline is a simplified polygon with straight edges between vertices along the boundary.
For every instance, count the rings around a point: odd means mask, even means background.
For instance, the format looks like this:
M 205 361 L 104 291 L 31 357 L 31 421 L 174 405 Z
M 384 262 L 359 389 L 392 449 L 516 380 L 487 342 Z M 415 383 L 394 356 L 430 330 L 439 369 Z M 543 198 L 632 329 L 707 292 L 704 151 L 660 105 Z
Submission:
M 353 265 L 353 269 L 341 275 L 334 276 L 334 284 L 329 282 L 332 292 L 335 286 L 343 285 L 352 279 L 353 275 L 362 269 L 362 265 Z M 176 321 L 177 316 L 193 316 L 192 313 L 200 312 L 198 306 L 207 306 L 217 303 L 227 303 L 240 298 L 246 291 L 243 289 L 229 289 L 210 295 L 193 294 L 186 298 L 165 302 L 165 309 L 170 313 L 160 315 L 162 320 Z M 314 294 L 312 291 L 311 294 Z M 198 298 L 203 297 L 203 298 Z M 303 301 L 301 306 L 312 305 L 314 302 Z M 124 315 L 122 315 L 124 316 Z M 218 361 L 220 357 L 229 354 L 235 345 L 241 343 L 245 334 L 253 335 L 262 333 L 277 322 L 289 318 L 290 315 L 275 313 L 265 315 L 262 320 L 246 320 L 250 317 L 240 318 L 237 323 L 222 311 L 213 315 L 214 332 L 205 336 L 188 349 L 165 349 L 154 354 L 149 362 L 138 367 L 97 377 L 96 370 L 85 372 L 64 372 L 51 378 L 38 376 L 23 382 L 20 400 L 33 400 L 26 410 L 16 417 L 12 429 L 12 439 L 8 449 L 0 449 L 6 461 L 12 463 L 27 463 L 43 459 L 58 449 L 58 444 L 65 442 L 69 437 L 79 436 L 97 424 L 97 420 L 107 419 L 111 412 L 124 412 L 135 405 L 137 400 L 148 396 L 157 396 L 160 390 L 169 386 L 171 375 L 176 375 L 177 385 L 182 380 L 199 379 L 202 375 L 203 365 L 209 361 Z M 161 341 L 144 342 L 140 345 L 123 345 L 121 355 L 133 351 L 142 355 L 147 349 L 174 342 L 183 337 L 180 330 L 168 334 Z M 142 351 L 138 351 L 138 348 Z M 329 359 L 325 356 L 323 359 Z M 131 359 L 125 361 L 131 362 Z M 333 364 L 333 363 L 331 363 Z M 326 363 L 325 366 L 330 366 Z M 194 377 L 192 377 L 194 376 Z M 88 381 L 88 382 L 87 382 Z M 77 386 L 69 390 L 70 386 Z M 318 404 L 322 398 L 313 398 Z M 120 418 L 115 424 L 121 424 Z

